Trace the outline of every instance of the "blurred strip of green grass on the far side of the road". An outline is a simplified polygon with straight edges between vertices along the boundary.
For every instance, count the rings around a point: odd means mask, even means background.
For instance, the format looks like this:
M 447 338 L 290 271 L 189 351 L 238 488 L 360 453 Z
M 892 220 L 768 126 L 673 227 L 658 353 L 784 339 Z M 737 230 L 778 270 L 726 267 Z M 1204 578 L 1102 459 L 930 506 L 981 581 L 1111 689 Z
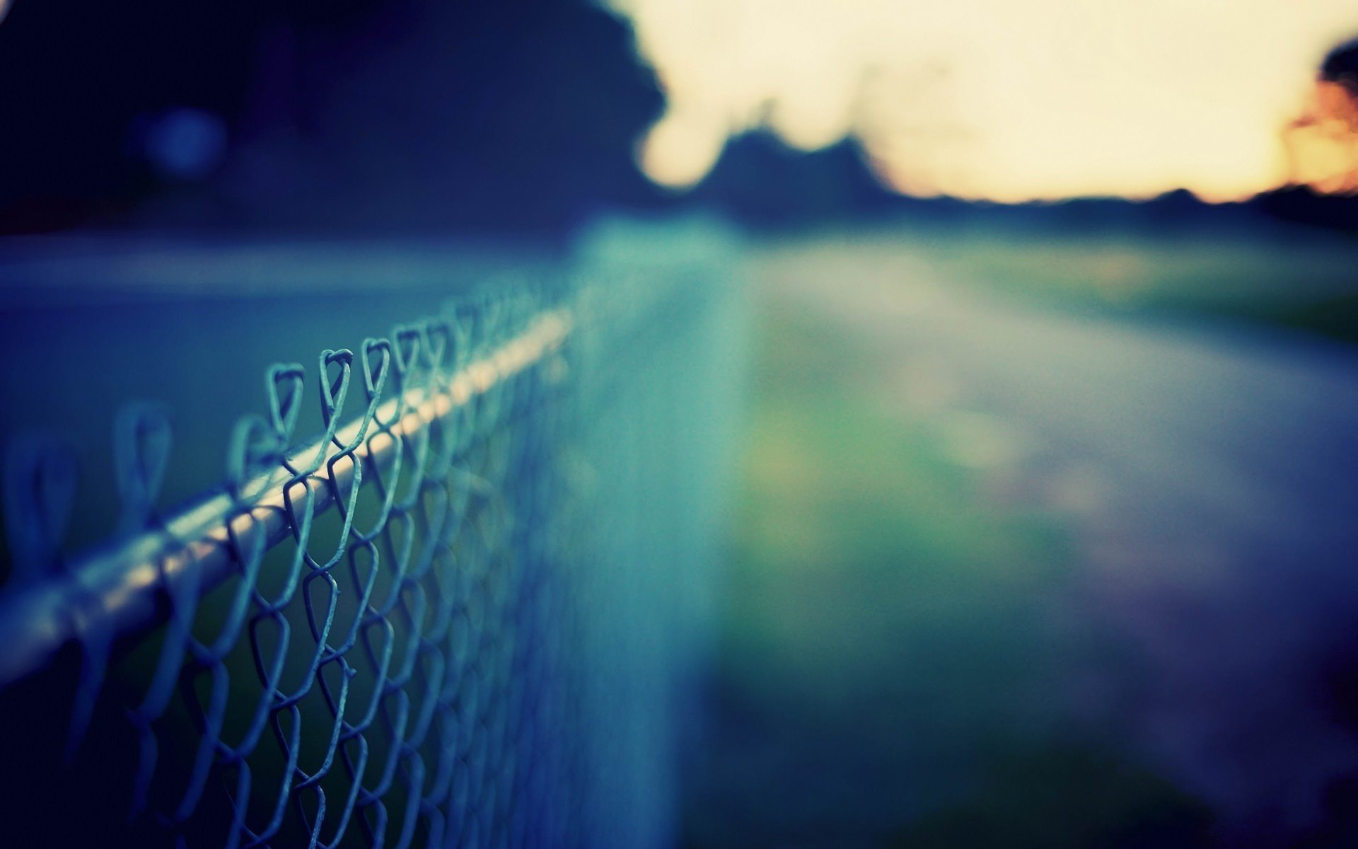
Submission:
M 777 250 L 799 259 L 823 251 L 834 257 L 827 270 L 843 278 L 925 270 L 990 296 L 1190 314 L 1358 342 L 1358 239 L 1304 228 L 1181 236 L 891 230 L 827 234 Z

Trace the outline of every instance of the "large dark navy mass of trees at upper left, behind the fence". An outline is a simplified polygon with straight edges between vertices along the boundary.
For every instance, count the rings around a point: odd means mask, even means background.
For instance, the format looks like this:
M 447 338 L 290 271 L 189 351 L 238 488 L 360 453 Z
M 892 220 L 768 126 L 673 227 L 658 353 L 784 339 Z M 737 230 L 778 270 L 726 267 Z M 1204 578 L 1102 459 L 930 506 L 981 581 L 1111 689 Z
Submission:
M 0 232 L 557 228 L 649 202 L 631 145 L 661 105 L 630 29 L 584 0 L 18 0 Z M 141 144 L 185 109 L 224 130 L 201 179 Z

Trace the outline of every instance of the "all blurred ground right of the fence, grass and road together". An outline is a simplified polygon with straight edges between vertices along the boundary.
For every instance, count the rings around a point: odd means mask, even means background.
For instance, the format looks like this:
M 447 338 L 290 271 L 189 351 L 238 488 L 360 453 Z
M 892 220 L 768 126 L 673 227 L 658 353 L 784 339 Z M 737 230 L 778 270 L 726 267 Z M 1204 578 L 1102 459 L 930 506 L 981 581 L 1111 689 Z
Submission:
M 763 353 L 693 842 L 1346 845 L 1321 800 L 1358 767 L 1358 353 L 1184 307 L 1291 308 L 1348 273 L 1325 255 L 1310 289 L 1270 289 L 1317 255 L 1123 247 L 1150 307 L 1128 311 L 1080 291 L 1112 262 L 1093 249 L 976 247 L 752 262 Z M 1025 285 L 1039 254 L 1058 265 Z

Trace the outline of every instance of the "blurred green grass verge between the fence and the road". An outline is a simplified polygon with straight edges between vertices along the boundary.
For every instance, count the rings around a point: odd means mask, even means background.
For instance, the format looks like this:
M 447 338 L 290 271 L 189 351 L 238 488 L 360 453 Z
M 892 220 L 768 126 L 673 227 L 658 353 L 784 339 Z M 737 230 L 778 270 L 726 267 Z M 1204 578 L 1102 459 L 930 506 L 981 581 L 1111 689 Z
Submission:
M 883 395 L 892 364 L 793 307 L 763 318 L 717 744 L 689 842 L 1202 831 L 1200 807 L 1063 713 L 1063 676 L 1099 647 L 1052 615 L 1071 557 L 1057 518 L 987 500 L 948 435 Z

